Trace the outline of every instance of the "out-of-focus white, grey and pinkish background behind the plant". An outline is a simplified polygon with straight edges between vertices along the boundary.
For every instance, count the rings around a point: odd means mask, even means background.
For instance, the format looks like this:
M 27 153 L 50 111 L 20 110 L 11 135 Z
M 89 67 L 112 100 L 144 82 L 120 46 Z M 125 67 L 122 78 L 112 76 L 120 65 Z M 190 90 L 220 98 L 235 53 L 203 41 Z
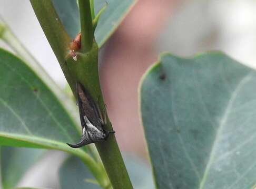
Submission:
M 54 81 L 65 88 L 61 68 L 29 1 L 1 0 L 0 15 Z M 121 150 L 148 161 L 138 88 L 143 73 L 161 52 L 189 57 L 221 50 L 256 68 L 255 23 L 254 0 L 139 0 L 101 49 L 99 59 L 107 112 Z M 0 46 L 7 48 L 1 42 Z M 57 167 L 63 159 L 61 152 L 48 154 L 19 185 L 58 188 Z M 55 165 L 51 171 L 49 162 Z

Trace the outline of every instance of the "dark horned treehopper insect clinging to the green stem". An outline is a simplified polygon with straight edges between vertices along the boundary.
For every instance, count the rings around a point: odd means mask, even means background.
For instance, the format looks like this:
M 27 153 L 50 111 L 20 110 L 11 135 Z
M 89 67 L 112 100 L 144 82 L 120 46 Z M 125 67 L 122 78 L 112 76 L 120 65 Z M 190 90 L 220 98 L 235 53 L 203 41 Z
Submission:
M 110 133 L 115 131 L 105 131 L 103 126 L 106 124 L 106 116 L 102 117 L 99 107 L 97 107 L 84 89 L 81 83 L 76 83 L 77 102 L 82 125 L 82 139 L 77 144 L 67 144 L 72 148 L 80 148 L 86 144 L 106 140 Z M 104 120 L 103 120 L 104 119 Z

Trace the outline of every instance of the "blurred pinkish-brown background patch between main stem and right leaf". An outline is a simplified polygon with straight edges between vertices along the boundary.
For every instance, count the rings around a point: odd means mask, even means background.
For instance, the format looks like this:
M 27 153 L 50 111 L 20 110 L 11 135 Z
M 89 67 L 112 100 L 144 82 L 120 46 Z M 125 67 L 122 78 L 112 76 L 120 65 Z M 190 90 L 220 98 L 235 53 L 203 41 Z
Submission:
M 146 155 L 139 118 L 139 83 L 157 59 L 154 41 L 171 16 L 174 2 L 139 0 L 104 48 L 101 85 L 122 151 Z

